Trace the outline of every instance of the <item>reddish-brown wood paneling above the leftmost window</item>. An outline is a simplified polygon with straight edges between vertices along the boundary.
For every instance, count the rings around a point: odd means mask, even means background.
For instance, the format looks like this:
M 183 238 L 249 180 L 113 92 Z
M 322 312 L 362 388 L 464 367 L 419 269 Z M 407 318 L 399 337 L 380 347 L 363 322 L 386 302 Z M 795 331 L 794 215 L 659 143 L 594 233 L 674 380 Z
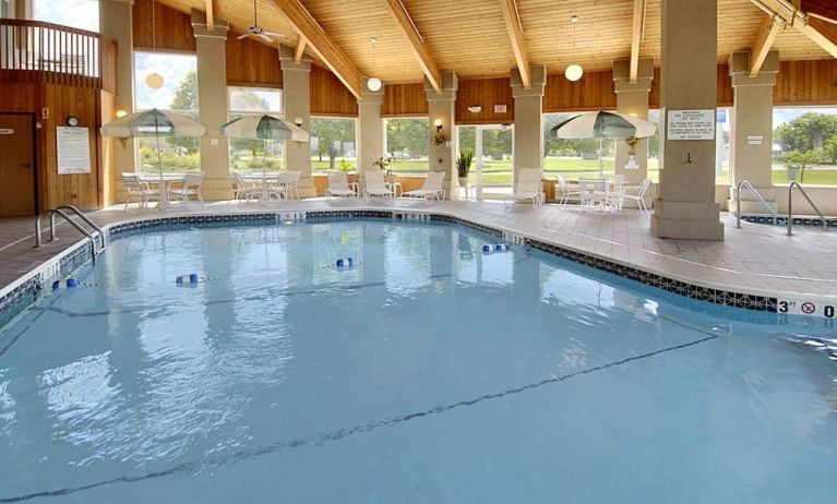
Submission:
M 133 7 L 134 49 L 151 51 L 154 48 L 152 25 L 157 26 L 157 50 L 160 52 L 195 52 L 196 43 L 192 32 L 192 16 L 156 2 L 152 19 L 152 0 L 136 0 Z

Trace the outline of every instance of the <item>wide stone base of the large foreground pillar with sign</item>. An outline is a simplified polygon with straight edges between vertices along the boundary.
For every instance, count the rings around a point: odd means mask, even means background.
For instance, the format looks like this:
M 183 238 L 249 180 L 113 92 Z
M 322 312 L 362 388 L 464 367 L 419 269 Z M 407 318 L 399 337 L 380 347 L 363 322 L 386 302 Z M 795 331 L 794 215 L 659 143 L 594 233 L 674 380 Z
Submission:
M 651 233 L 657 238 L 724 240 L 724 224 L 716 203 L 654 201 Z

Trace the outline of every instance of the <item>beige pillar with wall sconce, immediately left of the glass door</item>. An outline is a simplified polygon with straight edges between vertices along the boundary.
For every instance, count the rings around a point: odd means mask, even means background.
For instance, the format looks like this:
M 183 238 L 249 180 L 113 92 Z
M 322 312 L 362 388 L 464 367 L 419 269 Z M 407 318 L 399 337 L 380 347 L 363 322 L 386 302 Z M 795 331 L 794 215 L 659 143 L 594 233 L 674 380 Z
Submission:
M 453 197 L 456 191 L 456 173 L 454 173 L 453 158 L 456 142 L 454 141 L 454 121 L 456 120 L 456 91 L 459 88 L 459 80 L 454 72 L 442 72 L 442 92 L 437 93 L 425 77 L 425 94 L 428 101 L 428 140 L 430 142 L 430 171 L 444 171 L 443 188 L 447 191 L 447 197 Z M 442 131 L 437 133 L 434 122 L 442 121 Z M 442 135 L 444 141 L 435 145 L 437 135 Z

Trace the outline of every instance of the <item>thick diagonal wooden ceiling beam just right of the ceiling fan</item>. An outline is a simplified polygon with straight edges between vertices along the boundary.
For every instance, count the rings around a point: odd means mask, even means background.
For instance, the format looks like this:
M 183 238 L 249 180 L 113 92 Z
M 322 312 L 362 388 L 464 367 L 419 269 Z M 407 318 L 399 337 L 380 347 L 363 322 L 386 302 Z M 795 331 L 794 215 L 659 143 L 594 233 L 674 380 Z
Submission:
M 294 25 L 294 28 L 306 38 L 306 44 L 316 52 L 325 65 L 340 80 L 343 85 L 356 98 L 360 99 L 360 71 L 331 37 L 325 34 L 325 31 L 316 23 L 311 13 L 308 12 L 299 0 L 273 0 L 273 3 L 282 10 L 285 17 Z

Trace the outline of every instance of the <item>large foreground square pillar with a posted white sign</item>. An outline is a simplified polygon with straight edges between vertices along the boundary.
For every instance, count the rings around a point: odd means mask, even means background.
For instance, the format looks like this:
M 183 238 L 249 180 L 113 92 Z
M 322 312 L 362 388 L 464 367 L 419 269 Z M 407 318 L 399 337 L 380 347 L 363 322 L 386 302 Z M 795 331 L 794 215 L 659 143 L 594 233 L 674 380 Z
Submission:
M 715 137 L 672 140 L 669 116 L 708 111 L 715 128 L 717 0 L 661 0 L 660 184 L 651 232 L 659 238 L 722 240 L 715 203 Z M 717 132 L 716 132 L 717 134 Z

